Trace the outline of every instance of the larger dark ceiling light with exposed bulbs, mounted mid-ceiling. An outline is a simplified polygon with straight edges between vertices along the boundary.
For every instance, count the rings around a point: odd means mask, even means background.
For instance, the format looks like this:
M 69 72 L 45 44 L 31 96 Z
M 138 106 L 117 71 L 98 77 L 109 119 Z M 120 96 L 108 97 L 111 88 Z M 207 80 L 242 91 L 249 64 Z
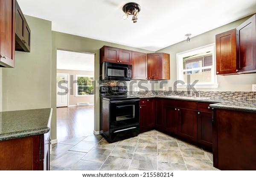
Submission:
M 140 12 L 140 5 L 137 4 L 137 3 L 127 3 L 123 6 L 123 12 L 125 13 L 123 15 L 123 19 L 127 19 L 128 18 L 128 15 L 132 15 L 132 21 L 134 23 L 137 23 L 137 16 L 138 16 L 138 13 Z

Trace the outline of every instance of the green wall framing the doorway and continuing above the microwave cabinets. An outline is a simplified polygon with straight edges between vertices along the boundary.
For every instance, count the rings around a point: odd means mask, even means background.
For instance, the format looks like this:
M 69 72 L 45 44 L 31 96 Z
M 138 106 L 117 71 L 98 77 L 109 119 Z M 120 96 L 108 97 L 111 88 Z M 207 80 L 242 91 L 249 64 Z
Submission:
M 152 53 L 151 51 L 137 49 L 129 46 L 118 45 L 116 43 L 109 43 L 101 40 L 94 40 L 90 38 L 83 38 L 76 35 L 64 34 L 61 32 L 52 31 L 52 74 L 56 74 L 56 58 L 57 49 L 66 49 L 76 52 L 90 52 L 95 54 L 94 61 L 94 76 L 95 80 L 99 80 L 99 49 L 102 46 L 113 46 L 122 49 L 129 49 L 138 52 Z M 96 95 L 94 95 L 94 130 L 99 131 L 99 84 L 96 84 Z M 56 79 L 52 75 L 52 133 L 56 133 Z M 56 139 L 52 136 L 52 139 Z

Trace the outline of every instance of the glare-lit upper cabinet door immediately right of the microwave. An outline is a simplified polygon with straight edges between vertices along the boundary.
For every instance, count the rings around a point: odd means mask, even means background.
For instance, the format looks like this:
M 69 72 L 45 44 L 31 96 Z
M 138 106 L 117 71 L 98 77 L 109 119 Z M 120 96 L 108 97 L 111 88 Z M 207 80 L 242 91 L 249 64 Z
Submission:
M 134 80 L 148 79 L 148 56 L 141 52 L 132 52 L 132 76 Z

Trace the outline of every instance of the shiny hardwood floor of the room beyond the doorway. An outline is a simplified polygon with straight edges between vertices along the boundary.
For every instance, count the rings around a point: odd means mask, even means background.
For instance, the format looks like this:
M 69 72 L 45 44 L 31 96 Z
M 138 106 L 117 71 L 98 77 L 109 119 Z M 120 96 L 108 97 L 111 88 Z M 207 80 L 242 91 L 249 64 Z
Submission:
M 94 106 L 57 108 L 58 141 L 93 134 Z

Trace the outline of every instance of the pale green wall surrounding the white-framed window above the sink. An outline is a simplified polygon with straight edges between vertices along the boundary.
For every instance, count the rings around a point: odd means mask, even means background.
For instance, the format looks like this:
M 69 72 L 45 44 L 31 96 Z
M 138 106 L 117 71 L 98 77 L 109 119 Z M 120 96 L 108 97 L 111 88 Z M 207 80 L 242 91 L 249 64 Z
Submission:
M 235 22 L 226 24 L 217 29 L 213 29 L 209 32 L 205 32 L 204 34 L 198 35 L 196 37 L 191 38 L 191 42 L 187 43 L 184 41 L 180 43 L 176 43 L 172 46 L 168 46 L 164 49 L 161 49 L 157 52 L 166 52 L 170 54 L 170 76 L 171 80 L 169 80 L 167 87 L 173 87 L 173 83 L 176 81 L 176 54 L 180 52 L 184 52 L 190 49 L 195 49 L 201 46 L 209 45 L 211 43 L 215 43 L 215 35 L 226 32 L 231 29 L 235 29 L 249 17 L 245 17 L 243 19 L 237 20 Z M 201 88 L 197 90 L 201 91 L 251 91 L 252 84 L 256 84 L 256 73 L 254 74 L 244 74 L 244 75 L 218 75 L 218 88 Z M 159 85 L 156 86 L 156 89 L 159 89 Z M 167 88 L 166 88 L 167 89 Z M 186 89 L 178 89 L 178 90 L 186 90 Z

